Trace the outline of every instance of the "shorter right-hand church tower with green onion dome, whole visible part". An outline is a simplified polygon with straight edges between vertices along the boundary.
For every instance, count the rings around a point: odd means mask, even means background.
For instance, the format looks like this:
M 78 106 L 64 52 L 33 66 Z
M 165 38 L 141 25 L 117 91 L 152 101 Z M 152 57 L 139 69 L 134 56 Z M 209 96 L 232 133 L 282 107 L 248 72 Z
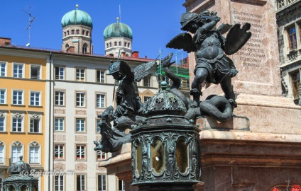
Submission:
M 105 54 L 118 57 L 120 50 L 121 57 L 131 57 L 132 40 L 131 28 L 117 18 L 116 23 L 112 23 L 104 29 Z

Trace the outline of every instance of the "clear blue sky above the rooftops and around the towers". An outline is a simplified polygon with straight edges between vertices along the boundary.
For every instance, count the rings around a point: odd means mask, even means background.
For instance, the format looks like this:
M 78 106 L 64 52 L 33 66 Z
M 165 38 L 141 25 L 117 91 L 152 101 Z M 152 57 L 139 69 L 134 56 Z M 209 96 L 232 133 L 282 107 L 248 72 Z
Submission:
M 159 49 L 165 48 L 175 35 L 180 33 L 180 16 L 185 12 L 185 0 L 6 0 L 1 1 L 0 37 L 10 37 L 12 44 L 28 43 L 28 15 L 36 17 L 31 25 L 31 47 L 61 50 L 62 25 L 65 13 L 75 9 L 86 11 L 93 21 L 92 41 L 94 54 L 104 54 L 104 28 L 116 22 L 121 6 L 121 23 L 133 31 L 133 50 L 139 56 L 155 59 Z M 29 9 L 31 7 L 31 9 Z M 165 53 L 166 52 L 166 53 Z M 180 54 L 180 52 L 179 52 Z

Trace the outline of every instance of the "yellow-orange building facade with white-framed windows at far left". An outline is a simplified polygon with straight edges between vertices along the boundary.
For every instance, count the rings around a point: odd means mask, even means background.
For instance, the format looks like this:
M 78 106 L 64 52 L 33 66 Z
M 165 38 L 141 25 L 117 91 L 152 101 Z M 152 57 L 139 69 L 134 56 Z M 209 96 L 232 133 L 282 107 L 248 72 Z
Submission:
M 49 153 L 45 146 L 48 55 L 0 49 L 0 183 L 19 156 L 34 170 L 45 170 L 45 158 L 49 158 L 45 156 Z M 40 190 L 44 190 L 45 177 L 38 178 Z

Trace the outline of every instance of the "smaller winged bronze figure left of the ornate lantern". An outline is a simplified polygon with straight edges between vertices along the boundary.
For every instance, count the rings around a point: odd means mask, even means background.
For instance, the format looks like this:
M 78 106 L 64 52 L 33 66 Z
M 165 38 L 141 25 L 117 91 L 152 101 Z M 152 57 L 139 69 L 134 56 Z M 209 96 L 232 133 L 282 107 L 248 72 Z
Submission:
M 131 71 L 130 66 L 126 62 L 111 62 L 109 73 L 113 78 L 119 81 L 119 86 L 116 91 L 116 110 L 114 112 L 114 127 L 124 131 L 137 125 L 144 117 L 144 106 L 138 94 L 137 82 L 148 76 L 148 70 L 156 62 L 148 62 L 136 66 Z

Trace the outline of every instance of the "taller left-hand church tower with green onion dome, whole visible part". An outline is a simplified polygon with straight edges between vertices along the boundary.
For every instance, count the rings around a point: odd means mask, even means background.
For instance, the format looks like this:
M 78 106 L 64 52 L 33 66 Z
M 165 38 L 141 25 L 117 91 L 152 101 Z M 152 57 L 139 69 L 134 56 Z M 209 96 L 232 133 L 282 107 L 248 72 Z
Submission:
M 93 54 L 92 19 L 88 13 L 78 9 L 62 17 L 62 52 Z

